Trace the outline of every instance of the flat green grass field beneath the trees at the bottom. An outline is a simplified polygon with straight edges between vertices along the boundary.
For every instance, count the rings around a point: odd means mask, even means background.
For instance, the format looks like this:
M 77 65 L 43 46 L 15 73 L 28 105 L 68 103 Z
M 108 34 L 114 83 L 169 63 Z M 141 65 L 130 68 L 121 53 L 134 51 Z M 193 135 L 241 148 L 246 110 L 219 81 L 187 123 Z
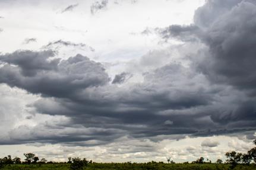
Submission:
M 8 165 L 3 168 L 3 170 L 18 170 L 18 169 L 38 169 L 38 170 L 48 170 L 48 169 L 55 169 L 55 170 L 65 170 L 69 169 L 68 163 L 51 163 L 51 164 L 42 164 L 42 165 Z M 89 165 L 84 168 L 88 170 L 92 169 L 229 169 L 229 165 L 227 164 L 216 164 L 216 163 L 175 163 L 175 164 L 167 164 L 167 163 L 89 163 Z M 256 165 L 238 165 L 235 169 L 256 169 Z

